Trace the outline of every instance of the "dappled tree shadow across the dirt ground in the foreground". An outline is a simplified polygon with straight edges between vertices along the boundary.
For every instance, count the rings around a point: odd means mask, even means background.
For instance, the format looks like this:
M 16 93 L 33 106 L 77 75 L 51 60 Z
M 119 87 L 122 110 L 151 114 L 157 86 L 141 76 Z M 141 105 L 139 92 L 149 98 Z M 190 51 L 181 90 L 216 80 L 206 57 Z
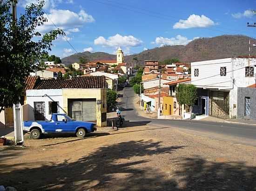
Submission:
M 200 156 L 168 159 L 185 146 L 164 146 L 160 141 L 137 140 L 101 146 L 76 161 L 5 166 L 9 155 L 1 155 L 1 184 L 22 191 L 255 191 L 256 167 L 225 159 L 210 161 Z M 86 149 L 86 148 L 85 148 Z M 150 165 L 152 158 L 173 163 L 165 172 Z M 155 160 L 157 160 L 155 158 Z M 154 163 L 153 163 L 154 164 Z M 7 170 L 7 172 L 5 172 Z M 33 177 L 33 181 L 31 178 Z

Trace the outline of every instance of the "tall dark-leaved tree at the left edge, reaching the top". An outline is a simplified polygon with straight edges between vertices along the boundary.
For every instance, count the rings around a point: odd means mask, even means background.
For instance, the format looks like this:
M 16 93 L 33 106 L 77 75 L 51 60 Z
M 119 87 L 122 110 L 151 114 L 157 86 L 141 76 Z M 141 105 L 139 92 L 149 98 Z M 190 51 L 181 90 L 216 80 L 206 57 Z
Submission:
M 60 29 L 43 36 L 36 30 L 47 22 L 42 10 L 44 1 L 27 6 L 14 20 L 11 5 L 12 0 L 0 2 L 0 112 L 21 102 L 25 78 L 36 69 L 35 63 L 51 51 L 52 42 L 64 35 Z

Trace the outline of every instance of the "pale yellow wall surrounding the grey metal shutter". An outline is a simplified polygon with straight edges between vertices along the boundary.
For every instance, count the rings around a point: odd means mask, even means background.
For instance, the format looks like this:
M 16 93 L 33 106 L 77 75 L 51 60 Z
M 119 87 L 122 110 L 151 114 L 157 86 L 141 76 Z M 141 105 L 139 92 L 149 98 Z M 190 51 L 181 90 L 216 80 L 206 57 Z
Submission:
M 96 107 L 97 126 L 107 126 L 107 120 L 102 121 L 102 116 L 107 115 L 107 89 L 63 89 L 63 109 L 68 112 L 67 99 L 96 98 L 101 101 Z

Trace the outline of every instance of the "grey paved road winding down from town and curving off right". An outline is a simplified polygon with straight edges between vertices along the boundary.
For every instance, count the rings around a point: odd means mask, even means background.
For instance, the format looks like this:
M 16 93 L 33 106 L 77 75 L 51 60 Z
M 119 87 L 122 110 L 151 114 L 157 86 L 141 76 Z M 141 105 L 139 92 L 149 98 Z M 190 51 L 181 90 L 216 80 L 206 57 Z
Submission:
M 148 119 L 139 116 L 136 112 L 138 108 L 134 108 L 133 100 L 137 95 L 131 87 L 124 88 L 121 94 L 123 94 L 120 102 L 122 115 L 125 115 L 125 119 L 131 121 L 135 126 L 150 124 L 160 127 L 174 127 L 191 131 L 191 134 L 256 146 L 256 126 L 208 121 Z

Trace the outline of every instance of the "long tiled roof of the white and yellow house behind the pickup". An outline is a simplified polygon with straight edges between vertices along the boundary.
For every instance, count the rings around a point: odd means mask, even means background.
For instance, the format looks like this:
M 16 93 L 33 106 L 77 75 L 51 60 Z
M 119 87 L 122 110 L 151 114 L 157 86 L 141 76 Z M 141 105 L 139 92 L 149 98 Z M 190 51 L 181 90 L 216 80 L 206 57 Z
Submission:
M 98 89 L 107 87 L 105 76 L 78 76 L 71 79 L 40 80 L 33 89 Z

